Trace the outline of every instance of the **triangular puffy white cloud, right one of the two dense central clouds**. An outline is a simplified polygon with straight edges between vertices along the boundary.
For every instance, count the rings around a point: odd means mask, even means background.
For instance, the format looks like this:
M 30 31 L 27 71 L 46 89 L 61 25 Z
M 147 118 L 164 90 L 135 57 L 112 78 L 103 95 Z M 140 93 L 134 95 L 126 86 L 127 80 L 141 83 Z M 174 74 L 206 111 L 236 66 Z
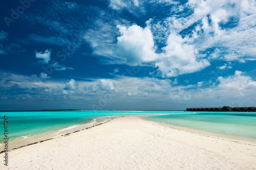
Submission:
M 156 63 L 162 77 L 176 77 L 199 71 L 210 63 L 200 56 L 193 45 L 186 43 L 180 35 L 171 34 L 167 40 L 165 52 Z

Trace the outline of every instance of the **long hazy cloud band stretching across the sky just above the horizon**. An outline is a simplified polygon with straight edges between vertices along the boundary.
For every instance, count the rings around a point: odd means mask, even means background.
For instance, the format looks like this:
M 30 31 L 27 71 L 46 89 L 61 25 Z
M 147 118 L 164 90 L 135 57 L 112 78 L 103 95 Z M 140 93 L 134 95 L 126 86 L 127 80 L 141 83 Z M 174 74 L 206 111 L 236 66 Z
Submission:
M 87 101 L 84 109 L 91 109 L 91 104 L 97 105 L 99 103 L 98 99 L 107 102 L 110 106 L 110 108 L 106 106 L 102 109 L 117 109 L 119 106 L 119 109 L 121 109 L 127 105 L 135 104 L 134 106 L 139 107 L 138 110 L 145 109 L 145 107 L 148 109 L 185 109 L 190 106 L 197 107 L 198 103 L 203 107 L 209 107 L 209 103 L 211 106 L 222 106 L 225 103 L 232 107 L 234 104 L 251 105 L 256 100 L 254 93 L 256 81 L 249 76 L 245 76 L 241 71 L 236 71 L 234 75 L 228 77 L 219 77 L 220 84 L 218 86 L 212 85 L 207 88 L 205 86 L 204 88 L 199 87 L 200 85 L 181 86 L 175 84 L 175 80 L 171 81 L 169 79 L 121 76 L 111 80 L 75 81 L 71 79 L 68 82 L 61 79 L 45 79 L 42 81 L 35 75 L 23 76 L 3 72 L 0 72 L 0 77 L 3 79 L 0 81 L 1 89 L 19 90 L 17 95 L 0 93 L 0 98 L 8 98 L 8 100 L 14 102 L 15 98 L 16 100 L 33 100 L 35 102 L 50 101 L 49 104 L 66 101 L 67 105 L 69 102 L 72 104 L 79 103 L 77 105 L 79 107 L 84 106 L 84 101 Z M 199 84 L 201 83 L 199 82 Z M 16 87 L 14 87 L 15 85 Z M 95 89 L 98 89 L 98 91 L 95 91 Z M 99 89 L 112 89 L 111 98 Z M 27 95 L 28 93 L 30 95 Z M 130 97 L 133 97 L 133 100 L 130 100 Z M 119 102 L 118 106 L 116 105 L 117 102 Z

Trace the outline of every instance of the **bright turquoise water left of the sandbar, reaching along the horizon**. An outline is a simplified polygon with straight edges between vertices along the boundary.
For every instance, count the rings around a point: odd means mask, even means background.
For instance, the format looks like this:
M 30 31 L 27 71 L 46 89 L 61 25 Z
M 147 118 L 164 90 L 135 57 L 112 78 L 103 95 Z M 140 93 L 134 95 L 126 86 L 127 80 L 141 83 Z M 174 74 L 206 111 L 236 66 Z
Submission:
M 4 116 L 8 116 L 8 138 L 10 140 L 59 130 L 74 125 L 89 123 L 97 117 L 154 114 L 161 112 L 140 111 L 38 111 L 0 112 L 0 143 L 4 139 Z

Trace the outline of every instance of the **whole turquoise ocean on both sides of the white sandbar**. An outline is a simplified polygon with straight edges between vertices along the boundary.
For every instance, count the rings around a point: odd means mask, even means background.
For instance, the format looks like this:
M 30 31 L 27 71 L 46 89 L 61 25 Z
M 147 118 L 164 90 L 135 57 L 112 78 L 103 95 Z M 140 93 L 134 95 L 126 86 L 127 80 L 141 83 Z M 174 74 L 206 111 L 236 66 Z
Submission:
M 94 122 L 95 118 L 119 115 L 166 114 L 146 119 L 188 129 L 256 139 L 255 112 L 184 112 L 184 111 L 38 111 L 0 112 L 4 137 L 4 116 L 8 116 L 8 138 L 15 140 L 45 132 L 64 130 Z M 1 130 L 0 130 L 1 131 Z

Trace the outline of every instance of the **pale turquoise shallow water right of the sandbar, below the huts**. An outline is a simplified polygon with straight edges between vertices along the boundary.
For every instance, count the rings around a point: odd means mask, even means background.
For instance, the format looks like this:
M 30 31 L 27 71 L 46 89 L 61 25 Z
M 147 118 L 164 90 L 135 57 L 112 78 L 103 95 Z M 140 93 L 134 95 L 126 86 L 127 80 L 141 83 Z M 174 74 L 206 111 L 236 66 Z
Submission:
M 210 133 L 256 139 L 255 112 L 180 112 L 147 119 Z

